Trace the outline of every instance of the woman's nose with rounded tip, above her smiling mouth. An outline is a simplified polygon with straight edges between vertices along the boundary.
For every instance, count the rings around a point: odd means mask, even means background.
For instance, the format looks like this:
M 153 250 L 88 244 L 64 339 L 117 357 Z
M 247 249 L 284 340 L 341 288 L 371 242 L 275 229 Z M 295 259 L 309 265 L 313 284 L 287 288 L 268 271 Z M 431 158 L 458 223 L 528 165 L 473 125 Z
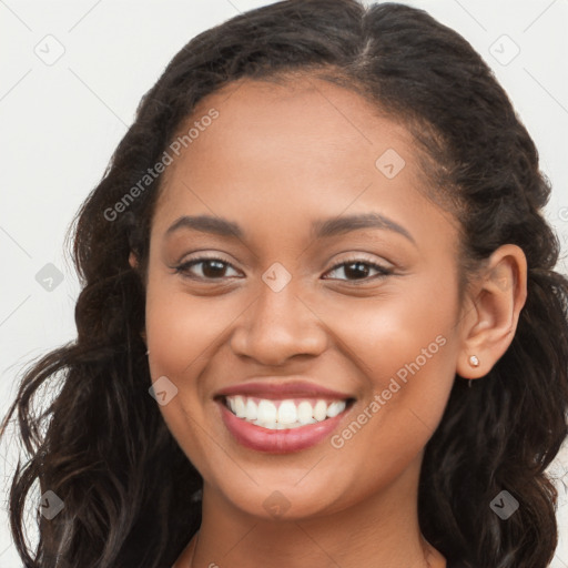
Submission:
M 231 337 L 236 355 L 263 365 L 282 365 L 296 355 L 320 355 L 327 346 L 325 317 L 290 282 L 276 292 L 264 283 L 237 321 Z

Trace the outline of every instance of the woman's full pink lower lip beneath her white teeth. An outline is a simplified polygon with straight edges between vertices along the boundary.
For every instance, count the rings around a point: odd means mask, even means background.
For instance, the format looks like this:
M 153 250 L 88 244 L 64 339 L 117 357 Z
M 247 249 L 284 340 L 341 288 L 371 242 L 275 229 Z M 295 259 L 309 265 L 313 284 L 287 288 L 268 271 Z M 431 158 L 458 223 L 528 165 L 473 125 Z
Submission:
M 223 402 L 219 402 L 219 405 L 223 423 L 240 444 L 257 452 L 272 454 L 287 454 L 315 446 L 337 427 L 348 412 L 347 408 L 337 416 L 326 418 L 317 424 L 285 430 L 271 430 L 237 418 Z

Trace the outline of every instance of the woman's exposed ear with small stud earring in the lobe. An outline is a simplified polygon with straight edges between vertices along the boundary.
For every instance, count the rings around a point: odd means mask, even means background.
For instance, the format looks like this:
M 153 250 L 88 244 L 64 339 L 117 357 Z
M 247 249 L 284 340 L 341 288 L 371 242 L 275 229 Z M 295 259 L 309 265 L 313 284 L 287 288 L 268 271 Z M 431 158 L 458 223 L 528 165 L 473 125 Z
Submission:
M 479 378 L 505 354 L 527 300 L 527 260 L 523 250 L 505 244 L 489 257 L 478 280 L 468 291 L 462 316 L 462 347 L 456 373 Z M 470 364 L 475 355 L 478 366 Z

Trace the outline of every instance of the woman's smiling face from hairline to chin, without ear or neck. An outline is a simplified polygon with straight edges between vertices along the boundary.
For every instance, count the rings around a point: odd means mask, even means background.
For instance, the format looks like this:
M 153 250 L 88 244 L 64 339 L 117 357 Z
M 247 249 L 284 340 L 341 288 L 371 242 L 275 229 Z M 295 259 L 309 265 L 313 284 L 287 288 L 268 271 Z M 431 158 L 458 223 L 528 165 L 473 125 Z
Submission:
M 236 85 L 169 149 L 146 296 L 160 409 L 225 510 L 394 509 L 455 378 L 455 222 L 420 192 L 408 133 L 359 95 Z

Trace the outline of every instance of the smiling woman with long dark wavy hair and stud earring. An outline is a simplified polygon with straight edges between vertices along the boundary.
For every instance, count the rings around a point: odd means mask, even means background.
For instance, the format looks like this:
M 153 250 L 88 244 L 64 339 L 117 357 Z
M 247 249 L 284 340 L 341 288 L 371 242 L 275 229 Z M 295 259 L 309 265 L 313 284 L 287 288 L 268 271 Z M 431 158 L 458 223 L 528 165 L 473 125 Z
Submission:
M 546 567 L 549 193 L 488 67 L 422 10 L 288 0 L 193 39 L 78 214 L 77 342 L 10 409 L 26 565 Z

